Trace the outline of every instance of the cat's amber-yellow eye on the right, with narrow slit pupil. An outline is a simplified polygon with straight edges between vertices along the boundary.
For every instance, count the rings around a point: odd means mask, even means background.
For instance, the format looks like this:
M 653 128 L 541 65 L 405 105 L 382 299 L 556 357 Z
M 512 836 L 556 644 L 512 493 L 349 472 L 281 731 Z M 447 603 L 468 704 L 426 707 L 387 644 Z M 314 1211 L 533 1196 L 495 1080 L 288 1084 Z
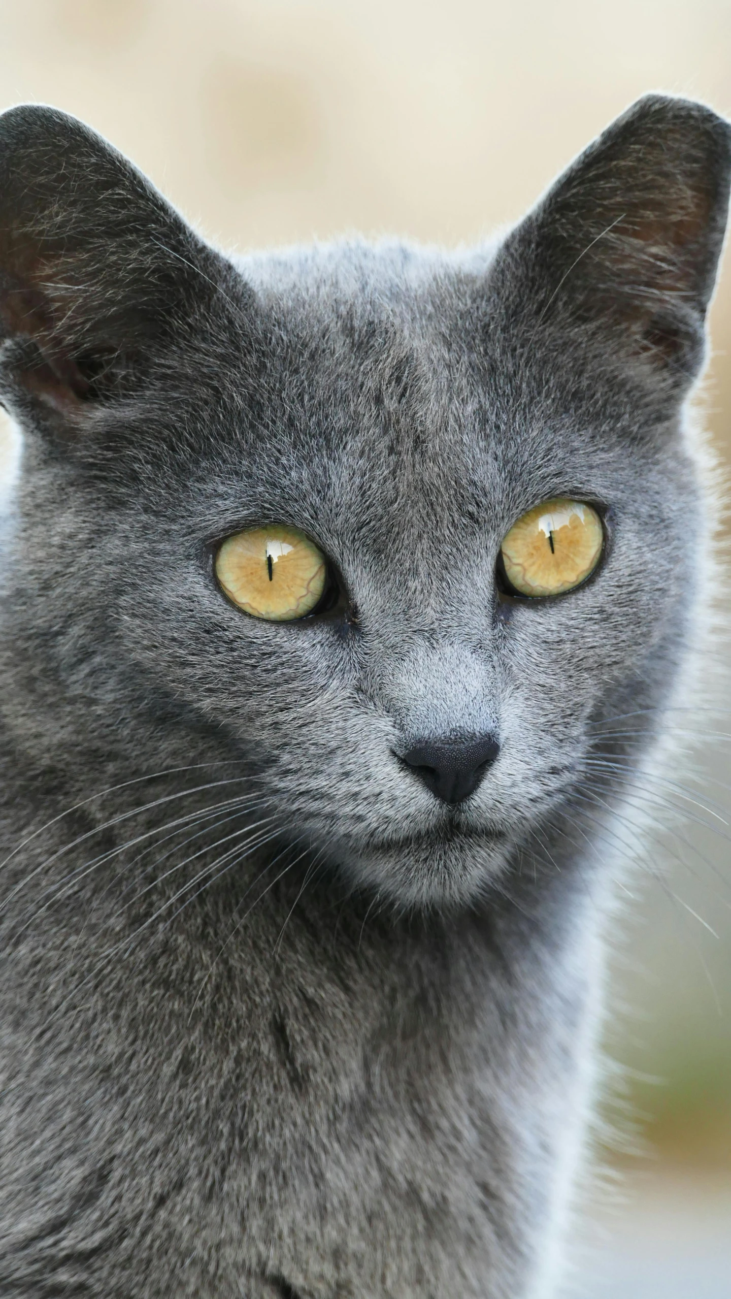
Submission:
M 502 542 L 502 564 L 521 595 L 561 595 L 593 573 L 604 530 L 591 505 L 556 498 L 523 514 Z

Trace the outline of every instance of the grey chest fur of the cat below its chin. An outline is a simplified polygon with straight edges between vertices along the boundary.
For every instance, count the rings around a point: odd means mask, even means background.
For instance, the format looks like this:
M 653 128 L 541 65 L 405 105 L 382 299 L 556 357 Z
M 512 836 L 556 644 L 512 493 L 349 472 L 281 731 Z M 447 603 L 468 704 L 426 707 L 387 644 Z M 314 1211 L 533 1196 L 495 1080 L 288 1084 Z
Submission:
M 142 957 L 138 940 L 136 960 L 110 968 L 121 898 L 105 883 L 86 922 L 78 896 L 55 908 L 44 976 L 22 970 L 16 991 L 9 1059 L 26 1081 L 8 1078 L 6 1113 L 29 1141 L 16 1194 L 30 1208 L 35 1187 L 53 1187 L 30 1241 L 4 1235 L 18 1293 L 39 1283 L 39 1241 L 44 1283 L 87 1274 L 106 1294 L 162 1293 L 170 1269 L 196 1295 L 286 1282 L 441 1296 L 456 1277 L 464 1294 L 484 1294 L 486 1278 L 510 1294 L 541 1270 L 557 1205 L 536 1167 L 575 1157 L 591 1031 L 588 970 L 576 987 L 556 930 L 541 931 L 551 887 L 528 890 L 515 933 L 495 911 L 396 929 L 364 927 L 366 904 L 339 916 L 341 900 L 292 914 L 301 881 L 280 882 L 261 896 L 253 942 L 214 965 L 238 890 L 213 889 L 183 933 L 160 933 Z M 118 930 L 118 957 L 140 922 Z M 70 979 L 69 944 L 82 943 Z M 45 1021 L 35 1046 L 22 1040 L 31 1017 Z M 27 1130 L 39 1108 L 43 1143 Z

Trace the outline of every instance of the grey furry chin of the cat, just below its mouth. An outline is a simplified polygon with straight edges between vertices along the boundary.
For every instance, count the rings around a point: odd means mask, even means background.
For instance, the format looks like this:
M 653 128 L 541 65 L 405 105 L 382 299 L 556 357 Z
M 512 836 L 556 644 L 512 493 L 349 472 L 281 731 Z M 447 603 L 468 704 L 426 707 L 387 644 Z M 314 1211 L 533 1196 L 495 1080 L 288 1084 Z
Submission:
M 510 847 L 500 834 L 417 835 L 349 852 L 347 869 L 360 886 L 397 907 L 465 907 L 505 873 Z

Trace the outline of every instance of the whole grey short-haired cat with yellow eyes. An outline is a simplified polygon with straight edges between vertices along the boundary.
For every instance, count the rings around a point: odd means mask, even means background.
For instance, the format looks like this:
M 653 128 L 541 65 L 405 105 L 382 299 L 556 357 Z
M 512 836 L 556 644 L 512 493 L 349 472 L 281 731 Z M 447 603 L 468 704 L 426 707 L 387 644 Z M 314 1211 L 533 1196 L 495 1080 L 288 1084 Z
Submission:
M 0 1295 L 556 1293 L 730 171 L 648 95 L 489 244 L 232 259 L 0 117 Z

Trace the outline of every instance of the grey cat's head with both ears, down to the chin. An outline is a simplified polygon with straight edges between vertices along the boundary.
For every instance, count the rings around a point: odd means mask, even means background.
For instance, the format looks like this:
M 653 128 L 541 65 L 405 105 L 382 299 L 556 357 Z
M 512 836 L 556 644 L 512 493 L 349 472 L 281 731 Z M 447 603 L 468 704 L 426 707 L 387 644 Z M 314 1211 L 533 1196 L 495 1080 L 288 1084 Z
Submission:
M 232 261 L 82 123 L 5 113 L 29 733 L 130 774 L 235 757 L 284 839 L 405 904 L 493 882 L 683 659 L 730 140 L 647 96 L 497 246 Z M 515 577 L 576 520 L 578 581 Z M 291 609 L 252 555 L 290 556 Z

